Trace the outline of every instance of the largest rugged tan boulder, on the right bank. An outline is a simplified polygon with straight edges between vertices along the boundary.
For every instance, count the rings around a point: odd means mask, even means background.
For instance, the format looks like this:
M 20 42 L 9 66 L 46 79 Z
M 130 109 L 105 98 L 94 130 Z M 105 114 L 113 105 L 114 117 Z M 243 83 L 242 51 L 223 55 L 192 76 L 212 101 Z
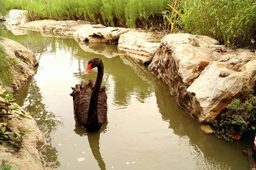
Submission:
M 148 69 L 169 85 L 180 106 L 208 123 L 241 94 L 254 88 L 256 60 L 249 50 L 230 50 L 210 37 L 166 35 Z

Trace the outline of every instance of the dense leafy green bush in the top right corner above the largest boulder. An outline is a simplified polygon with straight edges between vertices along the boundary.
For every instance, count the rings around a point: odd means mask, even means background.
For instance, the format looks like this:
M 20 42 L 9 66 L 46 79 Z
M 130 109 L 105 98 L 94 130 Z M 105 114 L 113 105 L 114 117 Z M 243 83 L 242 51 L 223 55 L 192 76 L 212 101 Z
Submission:
M 186 32 L 212 37 L 231 48 L 255 45 L 255 0 L 181 0 Z

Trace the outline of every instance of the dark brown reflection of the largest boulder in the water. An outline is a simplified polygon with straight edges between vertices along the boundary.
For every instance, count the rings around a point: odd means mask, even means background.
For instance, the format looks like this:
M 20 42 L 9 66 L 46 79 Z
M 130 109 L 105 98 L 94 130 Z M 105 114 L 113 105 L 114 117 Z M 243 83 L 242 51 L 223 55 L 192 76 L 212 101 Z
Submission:
M 213 134 L 206 134 L 200 129 L 200 124 L 193 119 L 183 108 L 177 105 L 175 99 L 169 92 L 169 86 L 159 79 L 154 80 L 155 95 L 157 98 L 157 106 L 164 121 L 169 121 L 169 128 L 180 136 L 180 142 L 189 142 L 195 151 L 195 164 L 197 169 L 203 169 L 201 161 L 205 159 L 207 164 L 211 164 L 210 170 L 233 170 L 237 168 L 237 164 L 233 161 L 227 162 L 227 155 L 224 150 L 232 150 L 232 145 L 227 143 L 227 148 L 223 147 Z M 198 128 L 196 128 L 198 127 Z M 217 142 L 216 142 L 217 141 Z M 223 159 L 221 159 L 223 157 Z

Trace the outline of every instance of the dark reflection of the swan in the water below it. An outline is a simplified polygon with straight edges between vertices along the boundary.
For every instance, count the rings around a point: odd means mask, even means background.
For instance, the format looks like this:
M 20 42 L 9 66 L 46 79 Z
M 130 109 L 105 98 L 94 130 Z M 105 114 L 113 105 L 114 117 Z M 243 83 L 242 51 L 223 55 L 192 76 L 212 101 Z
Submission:
M 76 134 L 79 134 L 80 136 L 88 137 L 88 142 L 89 142 L 90 148 L 92 150 L 93 156 L 96 159 L 96 161 L 98 162 L 99 168 L 101 170 L 106 170 L 106 164 L 103 161 L 102 156 L 99 151 L 99 136 L 101 133 L 105 133 L 107 131 L 107 126 L 108 126 L 108 119 L 103 124 L 102 128 L 98 132 L 95 132 L 95 133 L 88 132 L 87 130 L 85 130 L 83 127 L 81 127 L 77 123 L 76 123 L 75 129 L 74 129 Z

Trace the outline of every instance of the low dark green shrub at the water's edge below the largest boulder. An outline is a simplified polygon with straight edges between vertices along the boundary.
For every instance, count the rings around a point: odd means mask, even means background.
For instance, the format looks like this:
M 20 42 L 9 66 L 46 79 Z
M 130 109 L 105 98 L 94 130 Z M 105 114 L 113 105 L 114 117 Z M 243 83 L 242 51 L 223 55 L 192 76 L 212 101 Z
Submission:
M 227 105 L 228 111 L 221 115 L 219 121 L 214 120 L 212 127 L 214 133 L 228 141 L 232 141 L 235 136 L 240 136 L 244 133 L 255 134 L 256 132 L 256 96 L 253 95 L 253 90 L 242 90 L 241 93 L 246 95 L 244 101 L 234 99 Z

